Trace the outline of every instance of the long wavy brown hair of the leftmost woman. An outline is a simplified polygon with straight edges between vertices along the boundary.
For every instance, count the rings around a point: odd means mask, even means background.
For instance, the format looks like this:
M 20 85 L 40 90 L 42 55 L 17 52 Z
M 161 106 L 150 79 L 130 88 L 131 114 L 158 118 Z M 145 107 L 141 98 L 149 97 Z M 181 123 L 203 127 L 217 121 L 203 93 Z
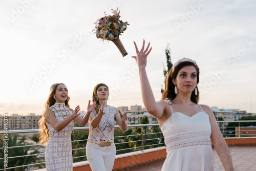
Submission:
M 56 90 L 57 90 L 59 84 L 63 84 L 63 83 L 55 83 L 51 86 L 51 89 L 50 89 L 51 93 L 50 93 L 50 95 L 48 97 L 48 100 L 45 104 L 45 108 L 46 108 L 45 111 L 47 109 L 49 109 L 56 102 L 56 100 L 53 98 L 53 96 L 56 93 Z M 63 84 L 63 85 L 65 86 L 65 84 Z M 69 108 L 69 100 L 70 100 L 70 97 L 68 95 L 67 100 L 65 100 L 65 105 L 68 108 Z M 49 141 L 49 136 L 50 136 L 50 133 L 49 133 L 49 130 L 48 130 L 48 127 L 47 127 L 47 124 L 46 124 L 45 111 L 42 113 L 42 117 L 38 121 L 38 124 L 39 124 L 39 143 L 42 146 L 47 145 L 47 142 Z

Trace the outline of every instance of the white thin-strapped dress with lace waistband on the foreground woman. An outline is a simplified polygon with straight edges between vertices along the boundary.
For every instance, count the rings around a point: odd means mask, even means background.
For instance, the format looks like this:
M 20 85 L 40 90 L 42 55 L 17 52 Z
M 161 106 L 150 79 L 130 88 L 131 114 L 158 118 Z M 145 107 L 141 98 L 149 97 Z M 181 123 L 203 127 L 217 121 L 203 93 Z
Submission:
M 171 105 L 170 109 L 172 116 L 161 127 L 167 146 L 162 171 L 219 170 L 211 147 L 208 114 L 202 110 L 189 117 L 180 112 L 174 113 Z

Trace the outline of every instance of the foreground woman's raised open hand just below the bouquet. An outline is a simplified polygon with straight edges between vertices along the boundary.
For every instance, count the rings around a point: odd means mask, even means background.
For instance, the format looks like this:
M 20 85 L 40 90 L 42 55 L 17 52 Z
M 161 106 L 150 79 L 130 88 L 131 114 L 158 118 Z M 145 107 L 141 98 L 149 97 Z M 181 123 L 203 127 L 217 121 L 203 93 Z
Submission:
M 142 48 L 140 51 L 138 50 L 138 47 L 137 47 L 135 41 L 134 41 L 134 45 L 135 45 L 137 56 L 132 56 L 132 57 L 135 58 L 139 68 L 145 68 L 147 55 L 150 54 L 150 52 L 152 50 L 152 47 L 151 47 L 150 50 L 148 51 L 148 48 L 150 47 L 150 42 L 148 42 L 148 45 L 147 45 L 146 49 L 144 50 L 145 40 L 143 40 L 143 45 L 142 45 Z

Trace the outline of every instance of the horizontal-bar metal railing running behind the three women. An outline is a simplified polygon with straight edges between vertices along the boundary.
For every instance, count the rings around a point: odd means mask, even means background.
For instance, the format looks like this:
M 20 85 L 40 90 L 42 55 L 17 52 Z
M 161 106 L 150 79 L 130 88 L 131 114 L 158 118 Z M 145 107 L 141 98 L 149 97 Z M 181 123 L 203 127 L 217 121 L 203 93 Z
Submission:
M 248 126 L 240 126 L 241 123 L 243 122 L 256 122 L 256 120 L 249 120 L 249 121 L 217 121 L 219 123 L 219 127 L 220 127 L 220 130 L 224 136 L 224 138 L 228 138 L 230 136 L 237 136 L 237 137 L 234 137 L 234 138 L 243 138 L 243 136 L 250 136 L 249 138 L 256 138 L 256 133 L 255 134 L 242 134 L 241 133 L 243 132 L 243 128 L 248 128 Z M 232 131 L 232 134 L 226 134 L 227 131 L 227 127 L 226 126 L 223 126 L 224 123 L 231 123 L 231 122 L 238 122 L 238 126 L 230 126 L 228 127 L 228 129 L 236 129 L 236 127 L 238 127 L 238 130 L 234 130 Z M 223 123 L 223 124 L 222 124 Z M 221 126 L 222 125 L 222 126 Z M 127 125 L 127 129 L 131 128 L 131 127 L 148 127 L 148 126 L 159 126 L 158 123 L 153 123 L 153 124 L 132 124 L 132 125 Z M 119 126 L 116 125 L 115 128 L 118 128 L 119 129 Z M 73 131 L 84 131 L 84 130 L 89 130 L 89 127 L 74 127 L 73 128 Z M 142 130 L 142 129 L 141 129 Z M 8 131 L 8 134 L 29 134 L 29 133 L 38 133 L 38 129 L 37 130 L 10 130 Z M 256 132 L 256 130 L 246 130 L 246 132 Z M 235 134 L 233 134 L 235 133 Z M 238 133 L 238 134 L 236 134 Z M 0 136 L 4 136 L 4 134 L 6 134 L 5 131 L 0 131 Z M 154 134 L 160 134 L 159 137 L 157 138 L 150 138 L 150 139 L 144 139 L 145 136 L 148 136 L 148 135 L 154 135 Z M 123 148 L 123 149 L 117 149 L 117 152 L 120 152 L 120 151 L 129 151 L 131 152 L 132 150 L 133 151 L 138 151 L 140 149 L 140 151 L 143 151 L 144 148 L 148 148 L 148 147 L 152 147 L 152 146 L 163 146 L 164 145 L 164 138 L 162 136 L 162 133 L 159 132 L 159 133 L 145 133 L 145 134 L 137 134 L 137 135 L 125 135 L 125 136 L 115 136 L 114 138 L 115 139 L 123 139 L 125 137 L 139 137 L 140 138 L 138 140 L 132 140 L 132 141 L 127 141 L 127 142 L 121 142 L 121 141 L 115 141 L 115 145 L 119 145 L 119 144 L 125 144 L 125 143 L 140 143 L 140 146 L 136 146 L 136 147 L 129 147 L 129 148 Z M 248 137 L 247 137 L 248 138 Z M 5 140 L 5 138 L 3 139 Z M 147 145 L 144 145 L 144 143 L 146 141 L 152 141 L 152 140 L 157 140 L 158 143 L 156 144 L 147 144 Z M 83 139 L 83 140 L 73 140 L 72 142 L 80 142 L 80 141 L 87 141 L 87 139 Z M 4 144 L 4 141 L 3 141 L 3 144 Z M 27 164 L 27 165 L 20 165 L 20 166 L 14 166 L 14 167 L 5 167 L 5 161 L 6 159 L 13 159 L 13 158 L 19 158 L 19 157 L 27 157 L 27 156 L 38 156 L 38 155 L 45 155 L 45 153 L 38 153 L 38 154 L 29 154 L 29 155 L 23 155 L 23 156 L 12 156 L 12 157 L 8 157 L 8 158 L 5 158 L 6 156 L 6 150 L 8 149 L 11 149 L 11 148 L 17 148 L 17 147 L 34 147 L 34 146 L 40 146 L 40 144 L 30 144 L 30 145 L 22 145 L 22 146 L 3 146 L 0 148 L 0 151 L 2 151 L 3 153 L 3 156 L 1 156 L 0 158 L 0 163 L 3 163 L 3 168 L 0 168 L 0 170 L 8 170 L 8 169 L 12 169 L 12 168 L 18 168 L 18 167 L 24 167 L 24 166 L 35 166 L 35 165 L 38 165 L 38 164 L 45 164 L 45 162 L 40 162 L 40 163 L 33 163 L 33 164 Z M 81 147 L 81 148 L 75 148 L 75 149 L 72 149 L 72 151 L 76 151 L 76 150 L 84 150 L 86 149 L 86 147 Z M 128 153 L 129 153 L 128 152 Z M 73 159 L 77 159 L 77 158 L 86 158 L 86 155 L 83 155 L 83 156 L 77 156 L 77 157 L 73 157 Z M 3 161 L 2 161 L 3 160 Z M 0 164 L 1 165 L 1 164 Z

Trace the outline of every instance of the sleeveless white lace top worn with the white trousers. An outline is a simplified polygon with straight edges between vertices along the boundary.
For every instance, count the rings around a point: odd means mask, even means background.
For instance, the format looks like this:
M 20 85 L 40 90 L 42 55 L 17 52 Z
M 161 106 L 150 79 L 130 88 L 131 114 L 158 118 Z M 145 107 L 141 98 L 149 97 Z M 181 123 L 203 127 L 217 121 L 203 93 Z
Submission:
M 114 126 L 115 126 L 115 114 L 116 108 L 113 106 L 107 106 L 103 110 L 105 114 L 102 116 L 99 125 L 95 128 L 89 124 L 89 140 L 92 141 L 113 141 L 114 140 Z M 96 116 L 96 112 L 94 112 Z

